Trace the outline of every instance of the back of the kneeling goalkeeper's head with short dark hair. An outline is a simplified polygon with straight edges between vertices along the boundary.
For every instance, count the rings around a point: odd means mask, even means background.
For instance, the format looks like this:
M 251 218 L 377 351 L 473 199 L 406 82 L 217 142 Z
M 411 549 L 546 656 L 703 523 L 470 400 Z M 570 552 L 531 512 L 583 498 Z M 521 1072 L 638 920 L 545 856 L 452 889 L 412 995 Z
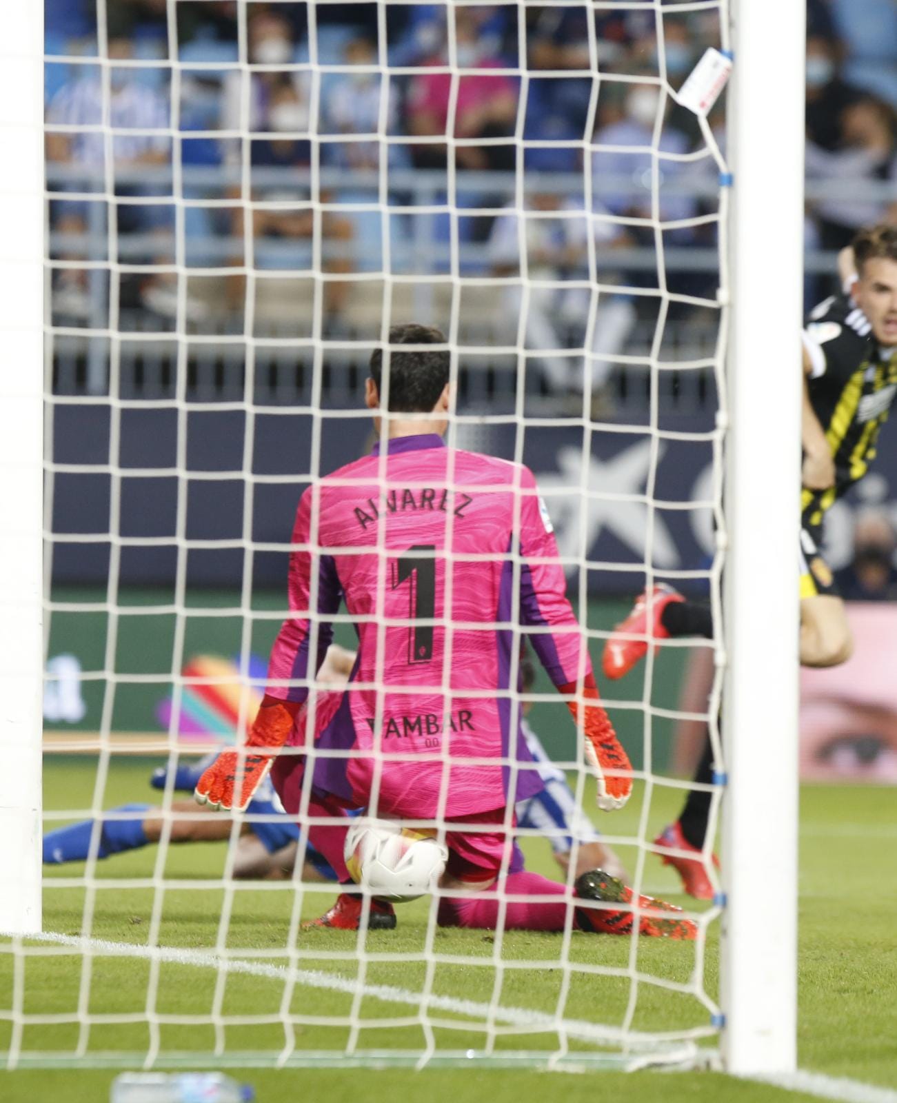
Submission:
M 406 322 L 389 330 L 389 413 L 429 414 L 449 381 L 451 354 L 448 349 L 397 352 L 395 345 L 446 344 L 446 335 L 435 325 Z M 383 350 L 371 355 L 371 378 L 381 394 Z

